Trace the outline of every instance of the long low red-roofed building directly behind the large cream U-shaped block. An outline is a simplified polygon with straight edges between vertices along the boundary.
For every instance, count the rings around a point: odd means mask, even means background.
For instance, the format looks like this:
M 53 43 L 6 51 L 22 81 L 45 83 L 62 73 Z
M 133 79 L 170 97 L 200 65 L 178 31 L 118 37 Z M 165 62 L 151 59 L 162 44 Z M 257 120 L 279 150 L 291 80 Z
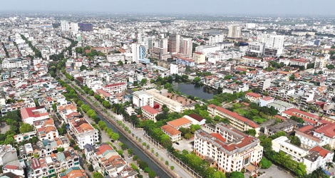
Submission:
M 256 130 L 256 137 L 258 137 L 259 135 L 259 125 L 257 125 L 252 120 L 248 120 L 247 118 L 242 117 L 241 115 L 237 114 L 237 112 L 232 112 L 217 105 L 208 105 L 207 111 L 213 117 L 217 115 L 222 118 L 227 118 L 228 120 L 230 120 L 230 125 L 238 130 L 247 131 L 254 129 Z

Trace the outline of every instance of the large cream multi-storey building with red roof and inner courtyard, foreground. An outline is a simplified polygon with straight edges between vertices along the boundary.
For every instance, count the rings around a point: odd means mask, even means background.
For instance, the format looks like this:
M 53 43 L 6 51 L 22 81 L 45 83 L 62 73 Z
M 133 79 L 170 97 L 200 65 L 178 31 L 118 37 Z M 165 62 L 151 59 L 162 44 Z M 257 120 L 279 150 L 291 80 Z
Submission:
M 195 154 L 223 172 L 239 172 L 244 168 L 252 175 L 257 174 L 256 165 L 263 155 L 259 139 L 223 123 L 213 129 L 214 132 L 195 132 Z

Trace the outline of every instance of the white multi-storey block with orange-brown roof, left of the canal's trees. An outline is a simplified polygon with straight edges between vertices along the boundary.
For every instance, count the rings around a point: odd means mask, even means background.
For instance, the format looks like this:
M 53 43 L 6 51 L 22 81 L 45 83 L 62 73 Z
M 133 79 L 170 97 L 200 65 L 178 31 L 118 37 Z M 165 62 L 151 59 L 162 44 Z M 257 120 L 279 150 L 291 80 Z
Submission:
M 86 144 L 95 145 L 99 142 L 98 130 L 92 127 L 83 117 L 69 120 L 68 125 L 76 136 L 78 146 L 83 149 Z

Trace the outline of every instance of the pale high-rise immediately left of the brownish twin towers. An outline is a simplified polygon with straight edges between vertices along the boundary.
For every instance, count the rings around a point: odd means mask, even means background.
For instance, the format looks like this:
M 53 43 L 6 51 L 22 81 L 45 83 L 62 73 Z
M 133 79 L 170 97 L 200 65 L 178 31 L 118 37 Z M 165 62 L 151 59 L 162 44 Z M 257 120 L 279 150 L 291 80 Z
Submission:
M 163 34 L 153 44 L 153 57 L 159 60 L 168 60 L 168 38 L 165 38 Z

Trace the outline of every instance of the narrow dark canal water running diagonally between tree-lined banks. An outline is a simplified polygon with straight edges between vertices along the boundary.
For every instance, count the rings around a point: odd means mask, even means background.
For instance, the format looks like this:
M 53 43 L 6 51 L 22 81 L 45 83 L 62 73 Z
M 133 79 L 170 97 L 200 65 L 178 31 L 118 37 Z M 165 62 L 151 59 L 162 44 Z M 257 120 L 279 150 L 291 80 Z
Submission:
M 82 100 L 83 103 L 85 105 L 87 105 L 87 103 Z M 108 122 L 107 120 L 105 120 L 101 115 L 98 114 L 98 112 L 96 112 L 96 116 L 100 118 L 100 120 L 103 120 L 107 127 L 111 128 L 113 130 L 113 132 L 118 133 L 118 135 L 120 135 L 119 141 L 122 142 L 123 144 L 127 145 L 128 148 L 131 148 L 134 150 L 134 155 L 138 155 L 138 158 L 144 162 L 147 162 L 149 165 L 149 168 L 153 171 L 156 172 L 156 175 L 158 177 L 169 177 L 168 174 L 166 174 L 163 169 L 160 169 L 160 167 L 158 167 L 155 162 L 153 162 L 149 157 L 147 157 L 147 155 L 143 154 L 143 152 L 138 149 L 138 147 L 136 147 L 132 142 L 130 142 L 121 132 L 118 132 L 118 130 L 110 124 L 110 122 Z M 142 135 L 138 135 L 138 137 L 141 137 Z

